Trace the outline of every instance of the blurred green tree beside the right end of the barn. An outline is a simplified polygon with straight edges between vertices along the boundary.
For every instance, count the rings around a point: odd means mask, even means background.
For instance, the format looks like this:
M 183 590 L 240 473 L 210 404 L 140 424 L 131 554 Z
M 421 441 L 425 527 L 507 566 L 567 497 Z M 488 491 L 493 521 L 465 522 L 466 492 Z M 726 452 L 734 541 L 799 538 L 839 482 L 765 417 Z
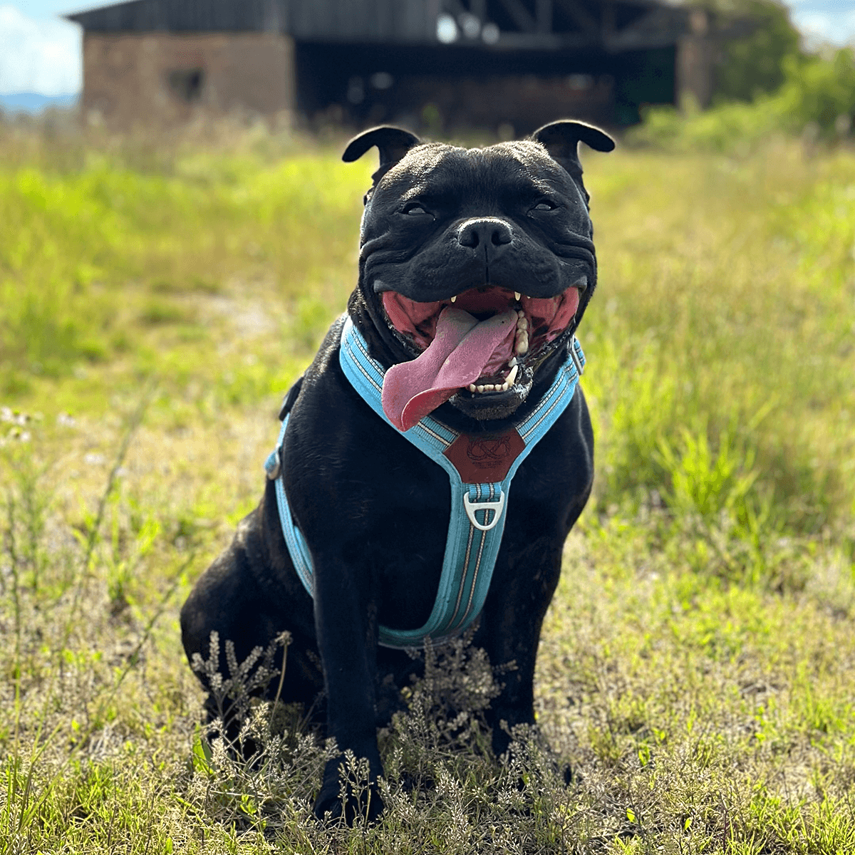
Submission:
M 745 35 L 722 43 L 713 100 L 752 101 L 784 83 L 784 61 L 799 55 L 799 32 L 778 0 L 709 0 L 716 25 Z

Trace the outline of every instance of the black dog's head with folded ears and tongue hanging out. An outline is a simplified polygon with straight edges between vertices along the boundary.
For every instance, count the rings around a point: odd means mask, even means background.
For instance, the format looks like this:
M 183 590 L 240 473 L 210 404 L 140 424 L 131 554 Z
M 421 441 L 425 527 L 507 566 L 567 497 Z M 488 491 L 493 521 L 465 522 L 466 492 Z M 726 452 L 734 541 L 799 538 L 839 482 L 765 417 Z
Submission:
M 580 142 L 615 147 L 578 121 L 484 149 L 397 127 L 348 144 L 348 162 L 380 150 L 350 308 L 397 363 L 383 403 L 398 428 L 445 401 L 507 418 L 566 353 L 597 282 Z

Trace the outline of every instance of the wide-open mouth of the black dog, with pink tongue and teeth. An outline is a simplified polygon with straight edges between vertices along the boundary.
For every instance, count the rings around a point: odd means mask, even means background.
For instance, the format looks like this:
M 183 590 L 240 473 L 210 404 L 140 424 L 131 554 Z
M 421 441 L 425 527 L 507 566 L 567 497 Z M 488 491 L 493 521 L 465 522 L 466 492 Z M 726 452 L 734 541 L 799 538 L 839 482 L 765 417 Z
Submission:
M 470 288 L 446 300 L 419 303 L 383 292 L 389 326 L 416 358 L 386 372 L 383 408 L 400 430 L 456 394 L 475 409 L 516 406 L 532 382 L 530 366 L 539 364 L 552 343 L 567 330 L 579 308 L 585 283 L 554 297 L 534 298 L 496 286 Z M 466 409 L 471 409 L 467 407 Z

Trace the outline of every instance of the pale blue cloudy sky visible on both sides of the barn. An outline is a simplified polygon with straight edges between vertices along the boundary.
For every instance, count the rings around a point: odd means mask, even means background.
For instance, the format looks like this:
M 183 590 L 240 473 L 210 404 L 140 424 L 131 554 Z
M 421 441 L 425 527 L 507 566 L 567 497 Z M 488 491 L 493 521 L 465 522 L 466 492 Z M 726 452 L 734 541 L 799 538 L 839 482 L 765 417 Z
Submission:
M 0 94 L 80 90 L 80 31 L 58 16 L 105 3 L 0 0 Z M 855 0 L 787 0 L 809 44 L 855 42 Z

